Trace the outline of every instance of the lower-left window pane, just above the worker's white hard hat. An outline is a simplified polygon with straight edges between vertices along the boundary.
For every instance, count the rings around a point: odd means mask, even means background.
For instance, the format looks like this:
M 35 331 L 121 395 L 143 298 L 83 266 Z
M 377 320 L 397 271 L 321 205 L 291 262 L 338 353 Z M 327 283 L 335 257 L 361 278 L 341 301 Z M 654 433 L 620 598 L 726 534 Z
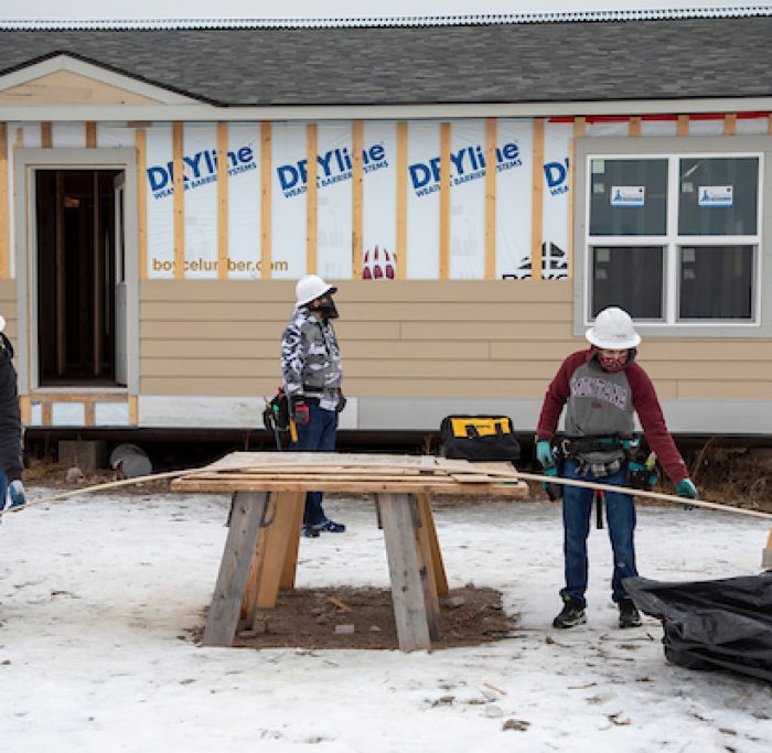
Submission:
M 609 305 L 624 309 L 633 319 L 662 315 L 662 246 L 592 248 L 592 316 Z

